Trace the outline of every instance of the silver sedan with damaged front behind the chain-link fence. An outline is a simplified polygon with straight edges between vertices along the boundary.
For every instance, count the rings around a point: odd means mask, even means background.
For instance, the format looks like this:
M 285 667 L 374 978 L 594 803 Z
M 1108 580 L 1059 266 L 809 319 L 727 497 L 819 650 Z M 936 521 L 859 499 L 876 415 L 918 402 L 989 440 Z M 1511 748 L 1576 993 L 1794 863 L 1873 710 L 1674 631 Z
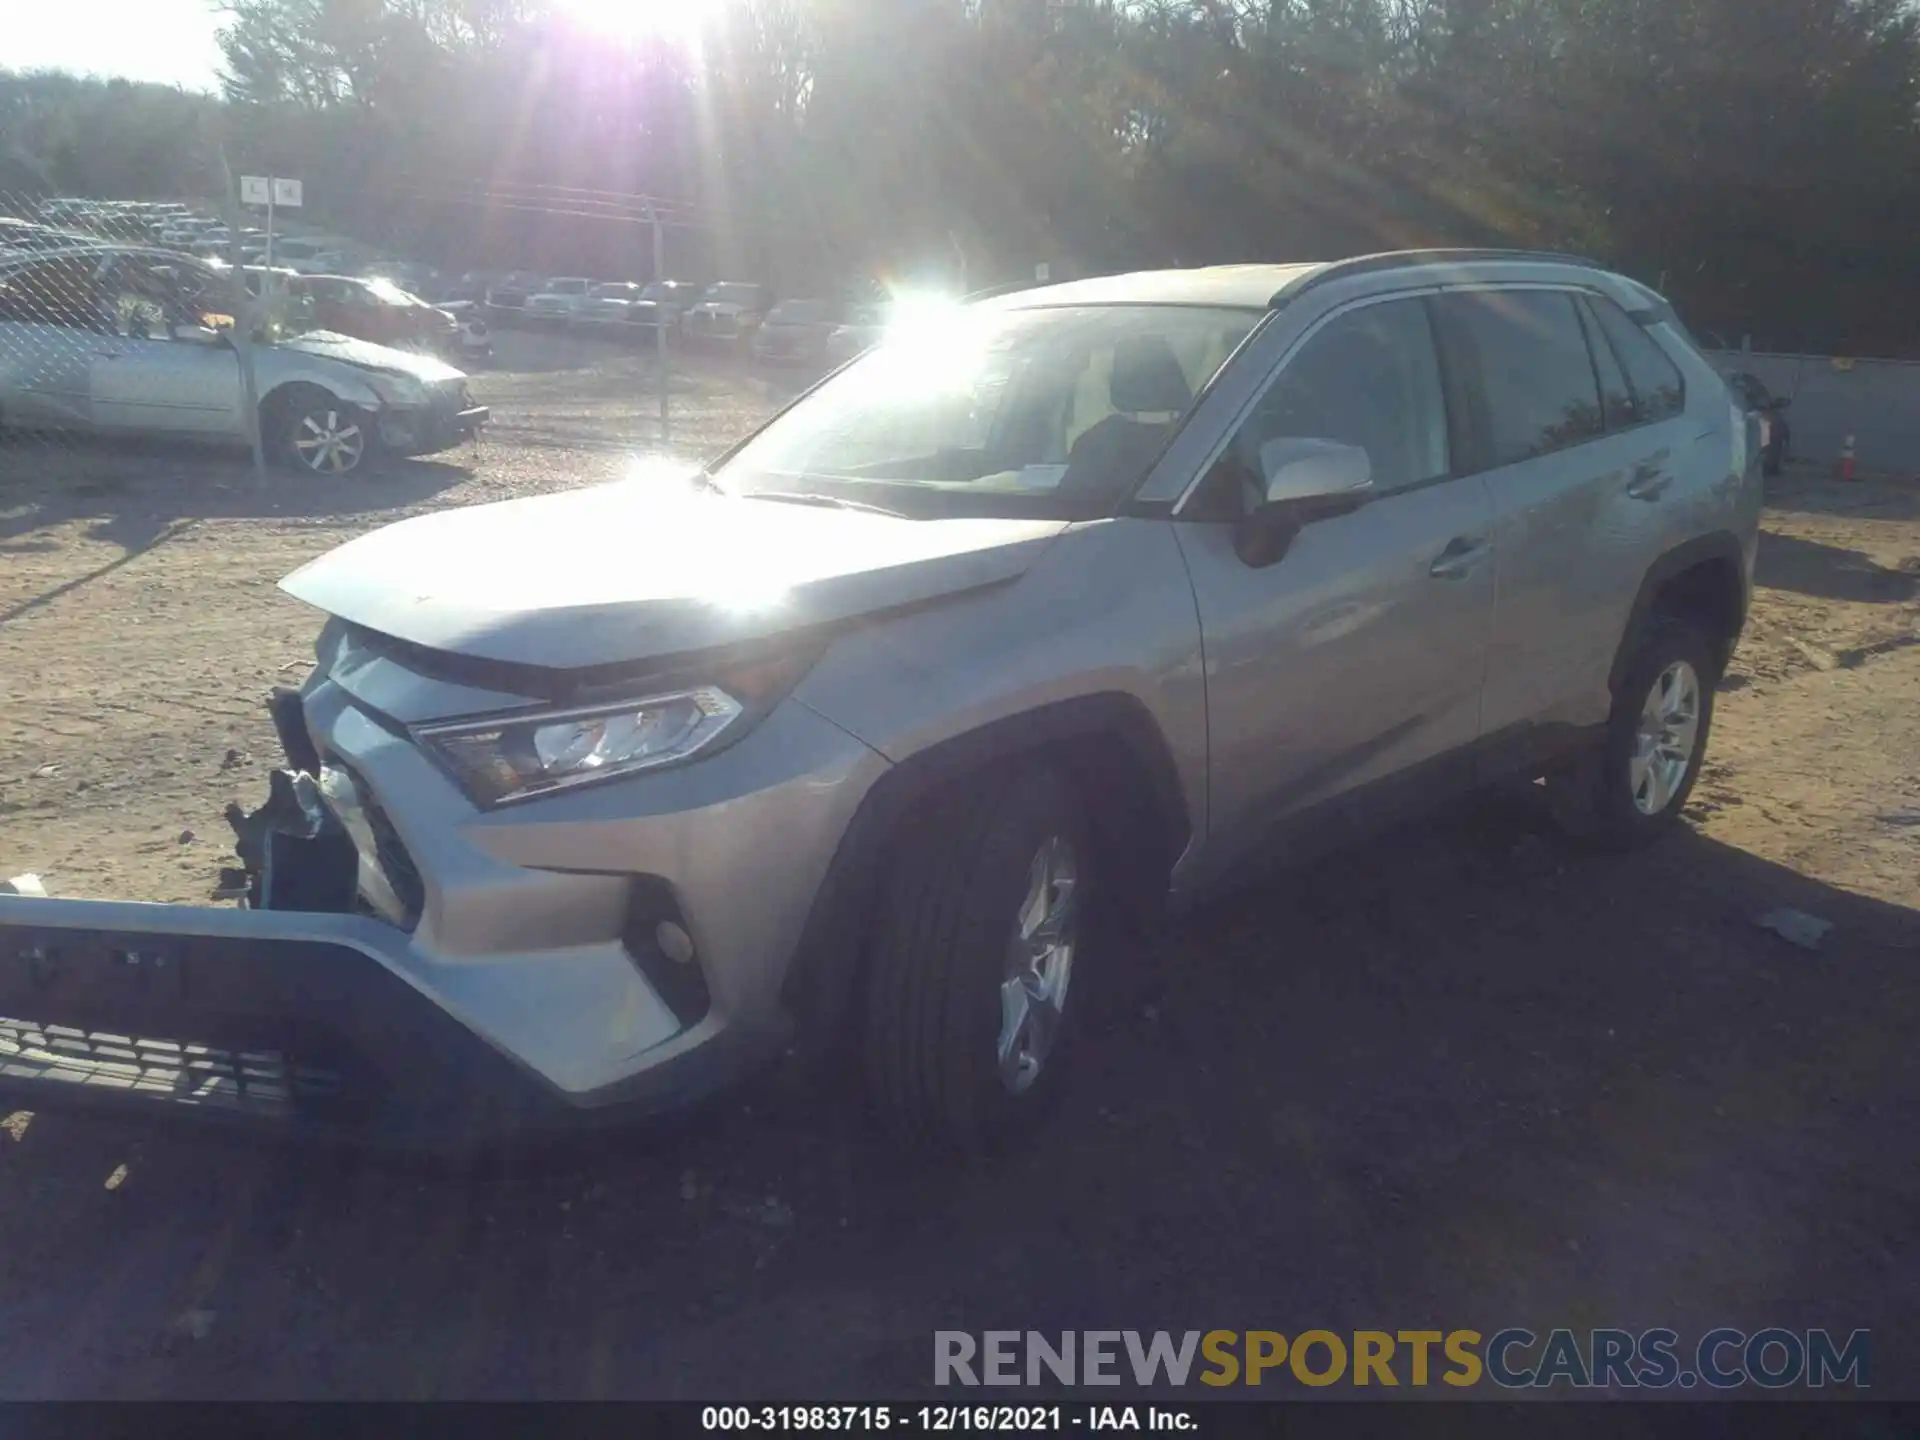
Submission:
M 215 267 L 157 250 L 0 259 L 0 424 L 248 442 L 232 292 Z M 290 468 L 353 474 L 451 449 L 488 420 L 467 376 L 432 357 L 309 328 L 298 307 L 257 334 L 261 442 Z

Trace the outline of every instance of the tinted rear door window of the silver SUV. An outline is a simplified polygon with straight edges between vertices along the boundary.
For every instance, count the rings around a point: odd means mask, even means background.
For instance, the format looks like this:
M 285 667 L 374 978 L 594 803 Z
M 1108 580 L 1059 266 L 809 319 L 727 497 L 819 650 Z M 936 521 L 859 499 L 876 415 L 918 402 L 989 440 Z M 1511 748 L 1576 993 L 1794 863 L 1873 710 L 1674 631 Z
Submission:
M 1603 434 L 1599 380 L 1571 294 L 1475 290 L 1436 305 L 1480 376 L 1486 465 L 1517 465 Z

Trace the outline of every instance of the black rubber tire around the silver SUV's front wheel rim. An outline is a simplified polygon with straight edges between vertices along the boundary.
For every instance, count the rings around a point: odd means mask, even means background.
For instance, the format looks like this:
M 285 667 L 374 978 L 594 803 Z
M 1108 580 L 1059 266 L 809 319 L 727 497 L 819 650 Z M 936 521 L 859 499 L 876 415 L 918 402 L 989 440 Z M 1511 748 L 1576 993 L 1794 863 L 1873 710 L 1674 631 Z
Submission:
M 1075 1016 L 1085 1008 L 1075 1006 L 1085 1000 L 1085 968 L 1098 964 L 1089 954 L 1096 900 L 1085 816 L 1060 776 L 1031 764 L 956 787 L 910 826 L 866 952 L 868 1091 L 881 1121 L 908 1146 L 995 1154 L 1031 1133 L 1060 1094 Z M 1016 1089 L 1002 1077 L 1002 985 L 1037 858 L 1052 839 L 1075 866 L 1068 983 L 1050 1043 Z

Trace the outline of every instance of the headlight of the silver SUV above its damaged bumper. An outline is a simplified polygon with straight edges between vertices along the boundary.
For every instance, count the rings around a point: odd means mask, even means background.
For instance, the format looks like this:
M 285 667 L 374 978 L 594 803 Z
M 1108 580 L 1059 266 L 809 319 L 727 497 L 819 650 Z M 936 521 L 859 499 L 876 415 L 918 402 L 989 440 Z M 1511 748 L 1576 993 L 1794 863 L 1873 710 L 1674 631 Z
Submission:
M 422 726 L 415 735 L 488 806 L 685 760 L 745 712 L 724 689 L 701 685 L 593 708 Z

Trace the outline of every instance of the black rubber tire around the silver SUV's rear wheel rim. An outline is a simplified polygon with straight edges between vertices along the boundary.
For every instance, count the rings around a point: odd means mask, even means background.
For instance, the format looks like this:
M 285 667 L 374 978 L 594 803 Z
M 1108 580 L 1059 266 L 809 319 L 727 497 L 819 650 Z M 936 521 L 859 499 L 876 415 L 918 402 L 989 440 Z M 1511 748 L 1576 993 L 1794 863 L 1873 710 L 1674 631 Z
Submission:
M 1716 655 L 1713 641 L 1692 622 L 1661 618 L 1647 630 L 1620 680 L 1603 741 L 1548 776 L 1548 797 L 1561 829 L 1582 843 L 1624 851 L 1647 845 L 1680 824 L 1713 739 L 1713 691 L 1720 680 Z M 1678 783 L 1661 787 L 1636 772 L 1634 758 L 1653 685 L 1665 682 L 1674 666 L 1686 666 L 1693 676 L 1693 743 Z M 1667 791 L 1665 799 L 1659 789 Z M 1657 808 L 1649 808 L 1655 801 Z

